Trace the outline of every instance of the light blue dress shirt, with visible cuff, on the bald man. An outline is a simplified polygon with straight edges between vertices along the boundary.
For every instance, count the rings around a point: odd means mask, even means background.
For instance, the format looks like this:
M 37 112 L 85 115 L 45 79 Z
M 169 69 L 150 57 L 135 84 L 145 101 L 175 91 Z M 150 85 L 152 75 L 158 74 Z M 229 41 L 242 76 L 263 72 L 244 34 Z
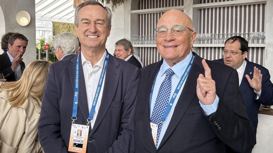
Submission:
M 163 63 L 162 65 L 160 66 L 160 69 L 159 69 L 159 73 L 158 75 L 156 76 L 156 80 L 155 80 L 155 83 L 154 83 L 154 90 L 153 90 L 153 95 L 152 95 L 152 100 L 151 100 L 151 110 L 150 110 L 150 118 L 152 116 L 152 112 L 153 112 L 153 109 L 154 109 L 154 104 L 155 104 L 155 100 L 156 100 L 156 97 L 158 95 L 158 91 L 159 91 L 159 88 L 160 88 L 160 85 L 161 83 L 163 82 L 163 80 L 165 79 L 166 77 L 166 70 L 171 68 L 172 71 L 175 73 L 174 75 L 172 75 L 172 88 L 171 88 L 171 96 L 173 95 L 176 87 L 177 87 L 177 84 L 180 82 L 180 79 L 182 77 L 182 75 L 184 74 L 187 66 L 189 65 L 190 63 L 190 60 L 191 60 L 191 57 L 192 57 L 192 52 L 189 53 L 189 55 L 187 55 L 187 57 L 177 63 L 176 65 L 170 67 L 167 62 L 165 61 L 165 59 L 163 59 Z M 187 77 L 188 78 L 188 77 Z M 161 131 L 160 131 L 160 135 L 159 135 L 159 138 L 158 138 L 158 145 L 157 145 L 157 148 L 159 147 L 160 145 L 160 142 L 168 128 L 168 125 L 171 121 L 171 118 L 172 118 L 172 114 L 173 114 L 173 111 L 174 111 L 174 108 L 177 104 L 177 101 L 181 95 L 181 92 L 184 88 L 184 85 L 187 81 L 187 78 L 185 79 L 183 85 L 181 86 L 181 89 L 180 91 L 178 92 L 177 94 L 177 98 L 175 99 L 173 105 L 172 105 L 172 108 L 170 110 L 170 112 L 168 113 L 163 125 L 162 125 L 162 128 L 161 128 Z M 217 109 L 217 106 L 218 106 L 218 97 L 216 96 L 216 99 L 214 101 L 214 103 L 212 105 L 203 105 L 202 102 L 199 101 L 201 107 L 202 105 L 205 106 L 203 109 L 204 111 L 206 112 L 207 115 L 211 114 L 211 113 L 214 113 Z

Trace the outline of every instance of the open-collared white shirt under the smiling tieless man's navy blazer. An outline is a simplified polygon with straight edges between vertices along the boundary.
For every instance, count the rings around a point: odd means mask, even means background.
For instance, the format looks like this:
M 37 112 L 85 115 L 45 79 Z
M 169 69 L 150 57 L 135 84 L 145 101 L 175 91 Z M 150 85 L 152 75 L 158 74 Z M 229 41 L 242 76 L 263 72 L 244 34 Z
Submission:
M 91 62 L 87 61 L 86 58 L 83 56 L 83 54 L 81 54 L 89 112 L 92 108 L 92 103 L 93 103 L 93 100 L 94 100 L 94 97 L 96 94 L 96 90 L 97 90 L 97 86 L 98 86 L 98 82 L 99 82 L 99 79 L 101 76 L 101 71 L 103 68 L 105 56 L 106 56 L 106 51 L 103 54 L 103 56 L 101 57 L 101 59 L 99 60 L 99 62 L 97 62 L 94 66 L 92 66 Z M 107 73 L 107 69 L 105 71 L 104 78 L 105 78 L 106 73 Z M 104 82 L 105 82 L 105 79 L 103 79 L 100 95 L 97 100 L 97 104 L 96 104 L 96 108 L 95 108 L 95 112 L 94 112 L 94 116 L 93 116 L 93 120 L 90 123 L 91 128 L 93 128 L 93 126 L 95 124 L 96 117 L 97 117 L 97 114 L 99 112 L 99 108 L 101 105 L 101 98 L 102 98 L 102 93 L 103 93 L 103 88 L 104 88 Z

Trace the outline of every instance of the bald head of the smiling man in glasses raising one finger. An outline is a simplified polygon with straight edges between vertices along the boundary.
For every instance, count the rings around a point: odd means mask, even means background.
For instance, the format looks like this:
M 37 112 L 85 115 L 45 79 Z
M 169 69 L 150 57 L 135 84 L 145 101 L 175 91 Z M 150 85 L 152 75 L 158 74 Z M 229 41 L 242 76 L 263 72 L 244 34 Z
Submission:
M 179 10 L 170 10 L 164 13 L 157 23 L 158 30 L 156 37 L 156 47 L 159 54 L 164 57 L 169 66 L 174 66 L 181 62 L 190 53 L 193 42 L 197 37 L 197 32 L 193 31 L 193 24 L 188 15 Z M 173 34 L 173 28 L 177 28 Z M 183 30 L 181 30 L 183 28 Z M 167 30 L 167 31 L 164 31 Z

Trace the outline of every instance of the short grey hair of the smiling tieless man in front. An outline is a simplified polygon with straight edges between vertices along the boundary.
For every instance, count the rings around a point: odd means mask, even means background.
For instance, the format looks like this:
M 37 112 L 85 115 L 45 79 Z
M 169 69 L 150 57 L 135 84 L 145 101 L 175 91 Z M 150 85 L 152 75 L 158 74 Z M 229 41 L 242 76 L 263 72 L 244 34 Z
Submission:
M 75 10 L 75 19 L 74 19 L 74 25 L 76 27 L 78 27 L 78 23 L 79 23 L 79 17 L 78 17 L 79 11 L 80 11 L 81 8 L 83 8 L 84 6 L 87 6 L 87 5 L 99 5 L 99 6 L 101 6 L 107 13 L 108 28 L 111 28 L 112 12 L 111 12 L 110 8 L 107 7 L 107 6 L 103 6 L 100 2 L 93 1 L 93 0 L 83 2 L 80 5 L 78 5 L 78 7 L 76 8 L 76 10 Z

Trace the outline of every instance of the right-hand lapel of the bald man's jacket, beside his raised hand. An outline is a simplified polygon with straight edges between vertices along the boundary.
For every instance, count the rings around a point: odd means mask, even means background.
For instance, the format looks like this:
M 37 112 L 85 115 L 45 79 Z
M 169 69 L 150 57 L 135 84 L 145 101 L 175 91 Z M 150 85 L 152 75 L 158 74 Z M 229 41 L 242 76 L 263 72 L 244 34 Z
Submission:
M 196 95 L 196 86 L 193 84 L 197 83 L 197 78 L 200 73 L 204 74 L 204 68 L 202 65 L 202 58 L 199 57 L 196 53 L 193 52 L 195 55 L 195 59 L 193 65 L 191 67 L 190 73 L 188 74 L 187 80 L 181 92 L 181 95 L 177 101 L 176 107 L 172 114 L 171 121 L 168 125 L 168 128 L 162 138 L 161 143 L 159 144 L 158 149 L 166 142 L 169 136 L 172 134 L 173 130 L 177 127 L 178 123 L 186 113 L 192 99 Z

